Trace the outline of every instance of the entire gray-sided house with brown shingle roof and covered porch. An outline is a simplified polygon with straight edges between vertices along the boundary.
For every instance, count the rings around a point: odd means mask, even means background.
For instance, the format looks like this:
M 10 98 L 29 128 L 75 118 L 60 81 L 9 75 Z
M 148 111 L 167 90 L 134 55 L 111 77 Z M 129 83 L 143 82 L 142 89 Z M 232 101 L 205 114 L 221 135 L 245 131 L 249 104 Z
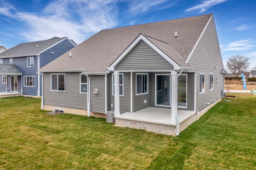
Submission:
M 212 14 L 102 30 L 40 69 L 42 109 L 177 135 L 221 100 Z M 198 113 L 198 114 L 197 114 Z

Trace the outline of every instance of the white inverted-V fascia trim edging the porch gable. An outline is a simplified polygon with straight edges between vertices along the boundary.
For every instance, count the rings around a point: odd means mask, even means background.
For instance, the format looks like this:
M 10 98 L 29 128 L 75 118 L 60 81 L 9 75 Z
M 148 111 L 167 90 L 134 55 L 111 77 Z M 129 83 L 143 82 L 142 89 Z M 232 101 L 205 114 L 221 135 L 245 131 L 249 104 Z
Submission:
M 168 55 L 166 55 L 163 51 L 161 51 L 154 43 L 150 42 L 145 36 L 140 34 L 127 48 L 124 52 L 109 66 L 110 71 L 115 71 L 115 66 L 122 61 L 122 59 L 140 42 L 143 40 L 150 47 L 152 47 L 157 53 L 159 53 L 164 59 L 166 59 L 170 64 L 173 65 L 174 70 L 180 70 L 181 66 L 178 65 L 175 61 L 173 61 Z

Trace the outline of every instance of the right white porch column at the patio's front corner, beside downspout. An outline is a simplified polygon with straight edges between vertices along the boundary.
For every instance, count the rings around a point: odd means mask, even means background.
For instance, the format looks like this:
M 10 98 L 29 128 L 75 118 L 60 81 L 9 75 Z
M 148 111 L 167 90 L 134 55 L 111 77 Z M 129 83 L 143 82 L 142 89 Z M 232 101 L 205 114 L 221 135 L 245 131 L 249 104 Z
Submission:
M 177 72 L 176 71 L 171 71 L 171 76 L 172 76 L 172 114 L 171 114 L 171 124 L 176 125 L 176 116 L 178 114 L 178 109 L 177 109 L 177 103 L 178 103 L 178 81 L 177 81 Z

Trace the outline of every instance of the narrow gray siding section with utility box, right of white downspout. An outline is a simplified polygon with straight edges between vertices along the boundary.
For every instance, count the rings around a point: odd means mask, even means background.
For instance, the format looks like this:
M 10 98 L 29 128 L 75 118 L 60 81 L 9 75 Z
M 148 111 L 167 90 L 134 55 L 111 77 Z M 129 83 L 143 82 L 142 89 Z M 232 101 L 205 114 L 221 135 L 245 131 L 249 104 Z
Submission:
M 91 82 L 90 111 L 105 114 L 105 75 L 89 75 Z M 94 94 L 98 89 L 98 95 Z

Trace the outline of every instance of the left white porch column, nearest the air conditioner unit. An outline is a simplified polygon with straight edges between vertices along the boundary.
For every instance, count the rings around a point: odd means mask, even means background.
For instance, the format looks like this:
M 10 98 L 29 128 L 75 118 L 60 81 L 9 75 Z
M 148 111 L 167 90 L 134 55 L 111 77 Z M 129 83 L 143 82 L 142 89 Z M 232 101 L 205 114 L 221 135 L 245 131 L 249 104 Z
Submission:
M 119 101 L 119 72 L 114 71 L 114 91 L 115 91 L 115 116 L 120 116 L 120 101 Z

